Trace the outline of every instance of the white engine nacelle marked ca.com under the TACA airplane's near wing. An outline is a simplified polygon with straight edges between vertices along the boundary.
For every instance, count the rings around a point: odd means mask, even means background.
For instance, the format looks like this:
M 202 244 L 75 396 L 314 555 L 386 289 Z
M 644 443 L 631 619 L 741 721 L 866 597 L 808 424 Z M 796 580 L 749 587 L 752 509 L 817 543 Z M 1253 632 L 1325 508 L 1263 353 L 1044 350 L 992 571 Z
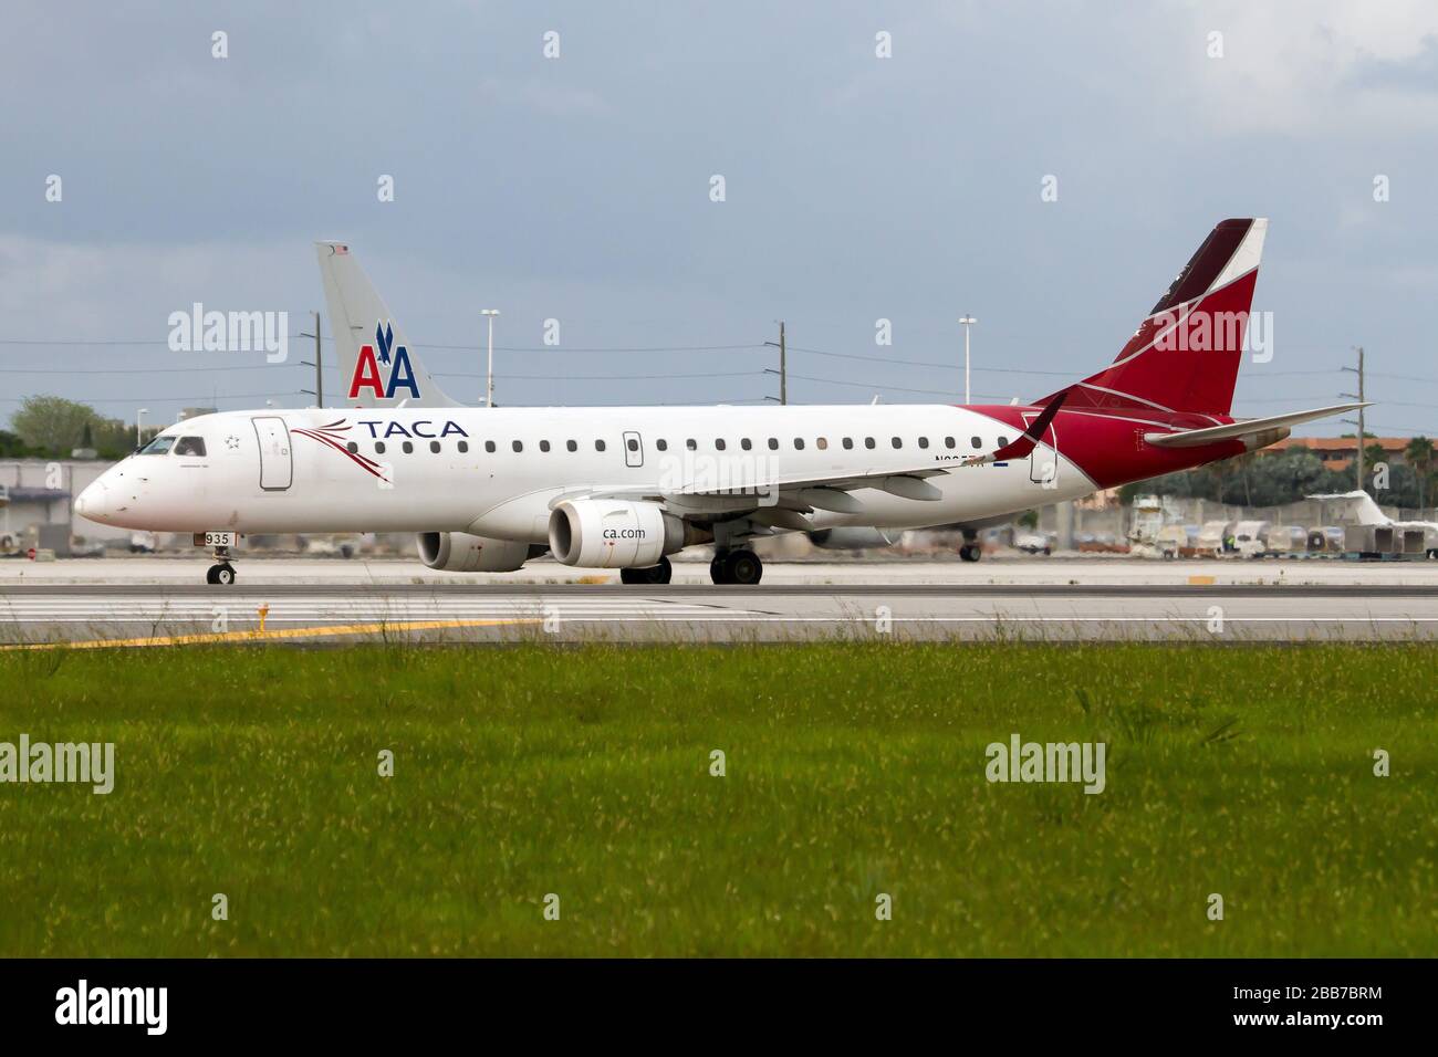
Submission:
M 693 542 L 687 535 L 683 519 L 659 503 L 572 499 L 549 515 L 549 554 L 565 565 L 646 568 Z

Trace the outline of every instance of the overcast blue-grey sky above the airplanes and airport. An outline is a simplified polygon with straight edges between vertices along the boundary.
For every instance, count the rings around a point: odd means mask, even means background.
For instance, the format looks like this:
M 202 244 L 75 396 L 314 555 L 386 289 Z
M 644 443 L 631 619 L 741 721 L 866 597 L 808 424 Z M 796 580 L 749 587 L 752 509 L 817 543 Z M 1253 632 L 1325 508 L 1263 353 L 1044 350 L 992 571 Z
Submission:
M 1215 221 L 1267 216 L 1274 355 L 1235 413 L 1333 403 L 1363 345 L 1370 429 L 1438 433 L 1428 0 L 10 0 L 3 29 L 0 420 L 303 406 L 305 341 L 165 338 L 193 302 L 308 329 L 313 239 L 467 401 L 489 306 L 502 404 L 762 400 L 778 319 L 794 403 L 953 401 L 963 312 L 975 400 L 1034 398 L 1110 361 Z

